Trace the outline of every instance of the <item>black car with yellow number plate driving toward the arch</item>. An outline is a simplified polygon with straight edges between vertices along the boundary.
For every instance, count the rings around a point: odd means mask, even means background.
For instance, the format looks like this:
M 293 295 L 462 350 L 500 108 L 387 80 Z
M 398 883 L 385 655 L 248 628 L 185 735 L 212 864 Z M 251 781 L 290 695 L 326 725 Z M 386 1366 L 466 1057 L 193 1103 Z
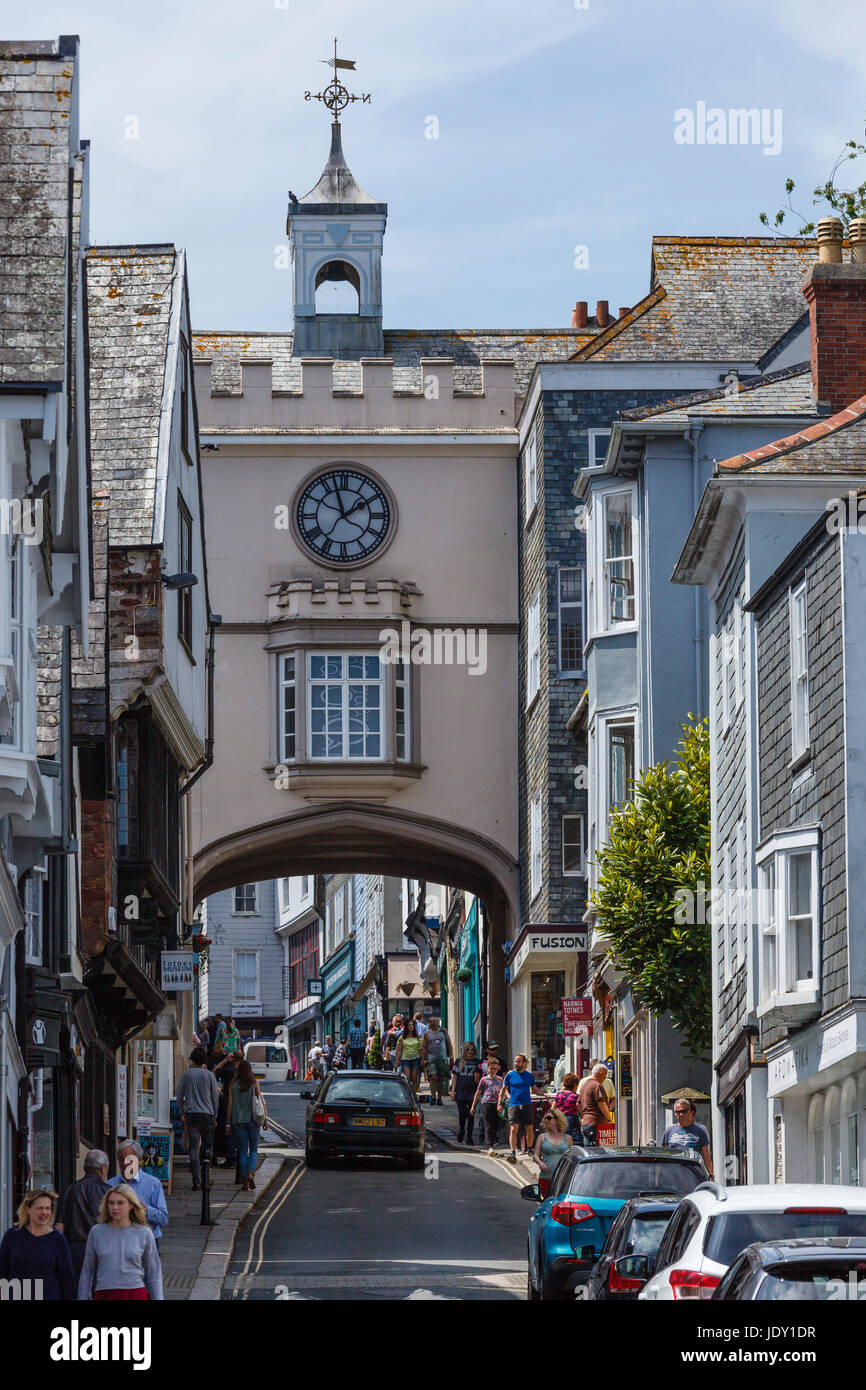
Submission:
M 411 1087 L 396 1072 L 328 1072 L 307 1105 L 306 1161 L 334 1154 L 378 1154 L 424 1168 L 427 1131 Z

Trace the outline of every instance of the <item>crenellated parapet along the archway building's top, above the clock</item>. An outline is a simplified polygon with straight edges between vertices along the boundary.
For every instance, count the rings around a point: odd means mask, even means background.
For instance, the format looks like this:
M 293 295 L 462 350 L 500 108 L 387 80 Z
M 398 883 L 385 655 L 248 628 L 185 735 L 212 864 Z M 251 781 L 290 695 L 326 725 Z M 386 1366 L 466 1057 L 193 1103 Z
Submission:
M 395 373 L 392 357 L 360 363 L 304 357 L 291 364 L 289 389 L 274 388 L 270 359 L 196 360 L 199 424 L 204 432 L 343 430 L 503 430 L 514 427 L 514 363 L 481 359 L 481 391 L 455 389 L 452 357 L 421 357 Z M 286 381 L 286 375 L 282 377 Z

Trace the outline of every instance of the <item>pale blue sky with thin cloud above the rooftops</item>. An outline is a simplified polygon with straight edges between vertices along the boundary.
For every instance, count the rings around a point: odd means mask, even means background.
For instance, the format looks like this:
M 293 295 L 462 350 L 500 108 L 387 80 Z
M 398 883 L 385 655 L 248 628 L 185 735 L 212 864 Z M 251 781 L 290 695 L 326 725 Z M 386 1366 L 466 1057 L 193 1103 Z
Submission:
M 373 93 L 343 147 L 389 204 L 385 325 L 555 328 L 578 299 L 635 303 L 653 234 L 758 235 L 788 175 L 808 207 L 866 114 L 862 0 L 578 4 L 36 0 L 26 36 L 81 35 L 93 239 L 185 246 L 196 327 L 291 327 L 277 249 L 288 189 L 327 158 L 328 115 L 303 93 L 339 35 L 352 89 Z M 19 6 L 0 15 L 19 38 Z M 677 145 L 674 113 L 699 101 L 778 108 L 781 153 Z

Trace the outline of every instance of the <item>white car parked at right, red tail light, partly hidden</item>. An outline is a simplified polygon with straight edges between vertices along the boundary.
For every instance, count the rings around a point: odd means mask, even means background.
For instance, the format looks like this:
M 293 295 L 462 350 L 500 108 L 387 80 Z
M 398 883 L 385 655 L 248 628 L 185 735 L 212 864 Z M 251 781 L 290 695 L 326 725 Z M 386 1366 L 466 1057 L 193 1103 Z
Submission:
M 728 1266 L 753 1241 L 823 1236 L 866 1237 L 865 1188 L 701 1183 L 671 1216 L 652 1272 L 641 1270 L 651 1277 L 638 1297 L 712 1298 Z

